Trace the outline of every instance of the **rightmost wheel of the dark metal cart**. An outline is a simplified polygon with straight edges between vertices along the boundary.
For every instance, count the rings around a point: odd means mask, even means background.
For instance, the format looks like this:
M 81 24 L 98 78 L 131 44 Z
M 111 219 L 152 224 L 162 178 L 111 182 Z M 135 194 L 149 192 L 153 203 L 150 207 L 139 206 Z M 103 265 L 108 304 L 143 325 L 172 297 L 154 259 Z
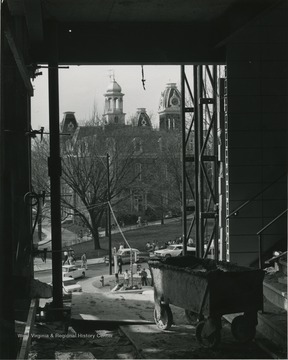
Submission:
M 256 334 L 256 326 L 245 315 L 236 316 L 231 324 L 231 332 L 236 340 L 245 343 L 252 341 Z

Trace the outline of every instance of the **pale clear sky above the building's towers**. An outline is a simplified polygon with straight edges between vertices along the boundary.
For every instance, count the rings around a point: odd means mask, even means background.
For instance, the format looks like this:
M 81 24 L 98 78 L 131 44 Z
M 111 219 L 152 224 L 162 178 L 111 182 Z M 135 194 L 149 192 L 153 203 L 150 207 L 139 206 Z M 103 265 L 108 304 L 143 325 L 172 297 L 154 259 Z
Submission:
M 48 69 L 40 70 L 42 75 L 33 81 L 34 96 L 31 101 L 31 120 L 33 130 L 44 126 L 49 129 L 48 107 Z M 145 65 L 145 88 L 142 85 L 140 65 L 98 65 L 70 66 L 59 69 L 59 122 L 65 111 L 75 112 L 77 121 L 91 118 L 93 109 L 102 115 L 104 110 L 104 93 L 110 83 L 111 73 L 122 88 L 124 113 L 126 120 L 136 113 L 137 108 L 146 108 L 147 113 L 154 114 L 153 126 L 158 124 L 158 106 L 161 92 L 166 84 L 174 82 L 180 90 L 180 66 L 178 65 Z

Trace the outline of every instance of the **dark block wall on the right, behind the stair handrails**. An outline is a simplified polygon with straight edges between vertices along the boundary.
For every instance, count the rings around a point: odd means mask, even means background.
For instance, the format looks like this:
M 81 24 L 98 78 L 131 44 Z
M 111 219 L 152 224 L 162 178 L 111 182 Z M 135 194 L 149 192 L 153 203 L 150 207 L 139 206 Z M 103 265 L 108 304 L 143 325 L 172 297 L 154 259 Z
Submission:
M 287 14 L 285 2 L 227 44 L 230 212 L 287 171 Z M 257 231 L 286 208 L 287 175 L 230 219 L 230 261 L 255 261 Z M 264 234 L 265 250 L 287 239 L 287 217 Z

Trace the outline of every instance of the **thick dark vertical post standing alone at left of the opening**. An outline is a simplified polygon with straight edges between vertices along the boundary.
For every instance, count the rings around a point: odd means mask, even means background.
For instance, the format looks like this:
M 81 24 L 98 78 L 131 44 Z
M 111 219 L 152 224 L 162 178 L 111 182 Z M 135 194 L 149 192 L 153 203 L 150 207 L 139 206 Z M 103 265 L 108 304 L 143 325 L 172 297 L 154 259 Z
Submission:
M 52 281 L 53 303 L 63 308 L 62 299 L 62 241 L 61 241 L 61 158 L 59 140 L 59 78 L 58 78 L 58 27 L 51 23 L 49 28 L 49 127 L 50 158 L 48 159 L 51 184 L 51 234 L 52 234 Z M 62 317 L 62 314 L 59 314 Z

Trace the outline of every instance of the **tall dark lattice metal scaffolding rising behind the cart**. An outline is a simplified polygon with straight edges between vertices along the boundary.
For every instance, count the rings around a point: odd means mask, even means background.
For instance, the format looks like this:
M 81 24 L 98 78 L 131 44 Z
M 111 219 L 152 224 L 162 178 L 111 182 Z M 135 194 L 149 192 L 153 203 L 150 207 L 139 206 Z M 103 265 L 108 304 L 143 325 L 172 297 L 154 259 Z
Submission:
M 184 254 L 192 237 L 196 256 L 215 260 L 226 258 L 222 72 L 217 65 L 181 66 Z

